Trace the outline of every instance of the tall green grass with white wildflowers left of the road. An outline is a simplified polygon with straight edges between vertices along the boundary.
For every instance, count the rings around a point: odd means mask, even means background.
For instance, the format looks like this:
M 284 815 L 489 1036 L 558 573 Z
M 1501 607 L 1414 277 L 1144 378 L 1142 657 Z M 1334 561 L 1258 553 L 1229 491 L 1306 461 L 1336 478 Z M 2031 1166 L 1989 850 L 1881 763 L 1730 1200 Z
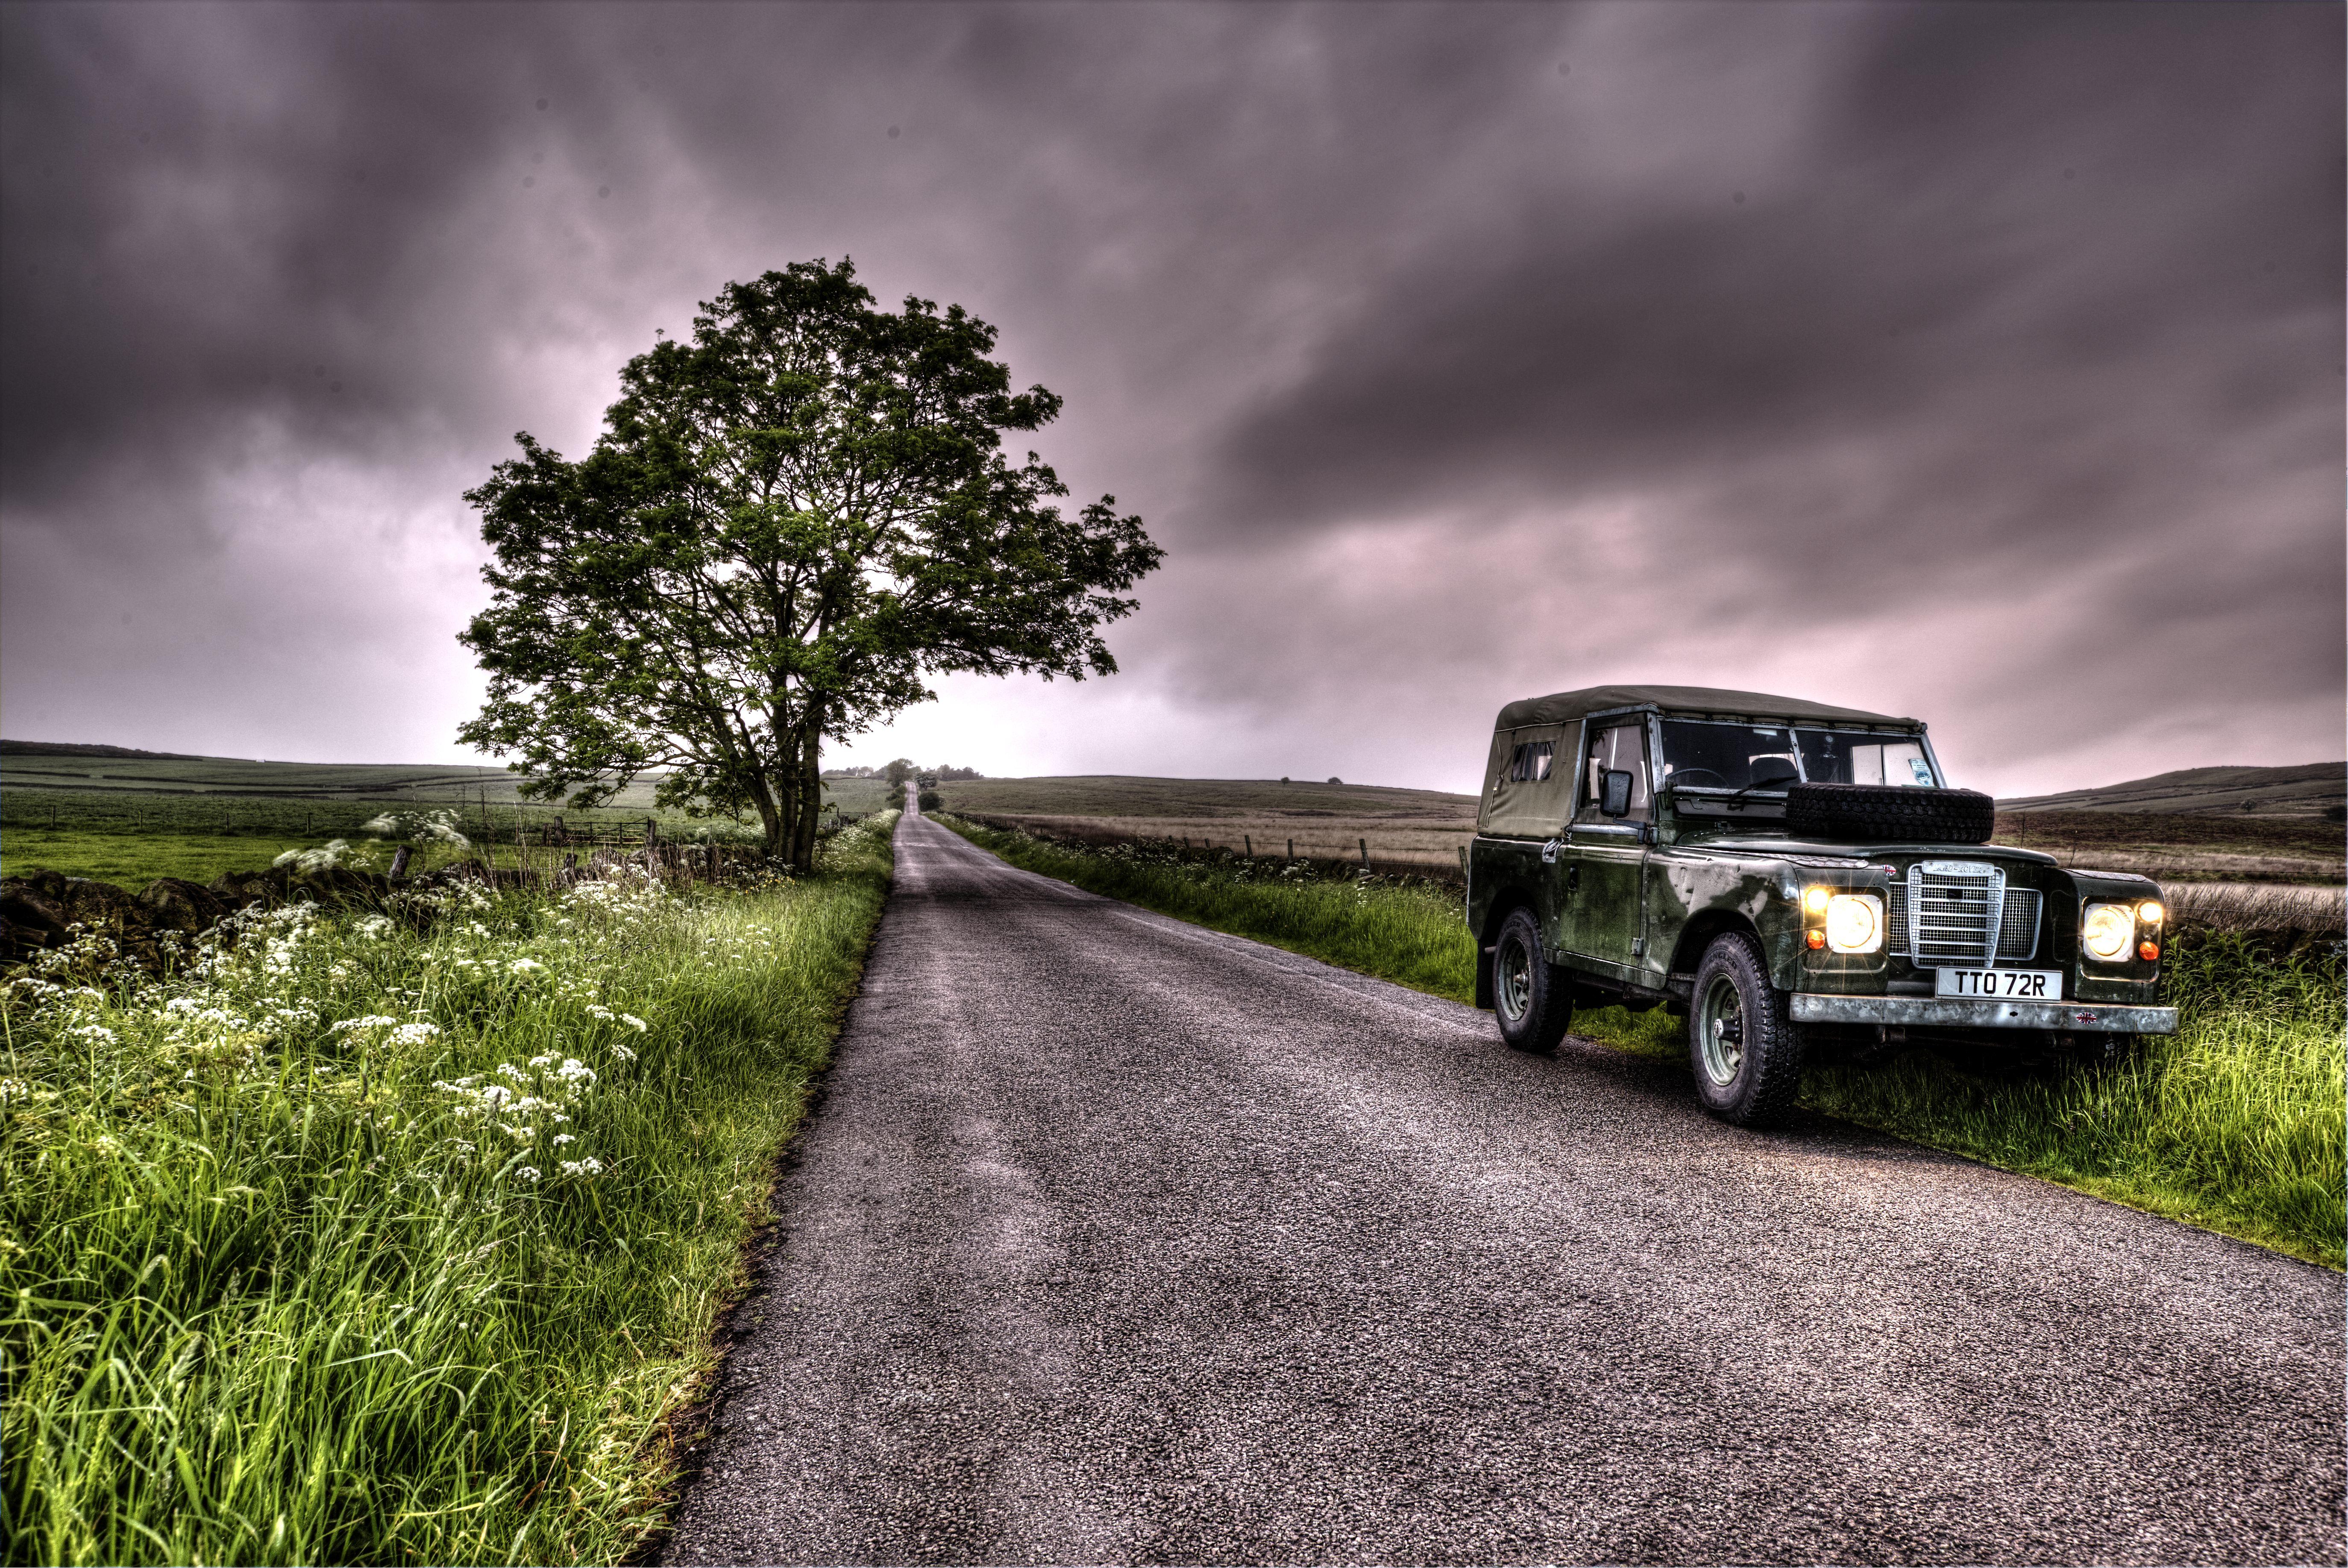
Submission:
M 7 1559 L 636 1549 L 888 826 L 751 892 L 296 908 L 162 984 L 92 941 L 14 986 Z

